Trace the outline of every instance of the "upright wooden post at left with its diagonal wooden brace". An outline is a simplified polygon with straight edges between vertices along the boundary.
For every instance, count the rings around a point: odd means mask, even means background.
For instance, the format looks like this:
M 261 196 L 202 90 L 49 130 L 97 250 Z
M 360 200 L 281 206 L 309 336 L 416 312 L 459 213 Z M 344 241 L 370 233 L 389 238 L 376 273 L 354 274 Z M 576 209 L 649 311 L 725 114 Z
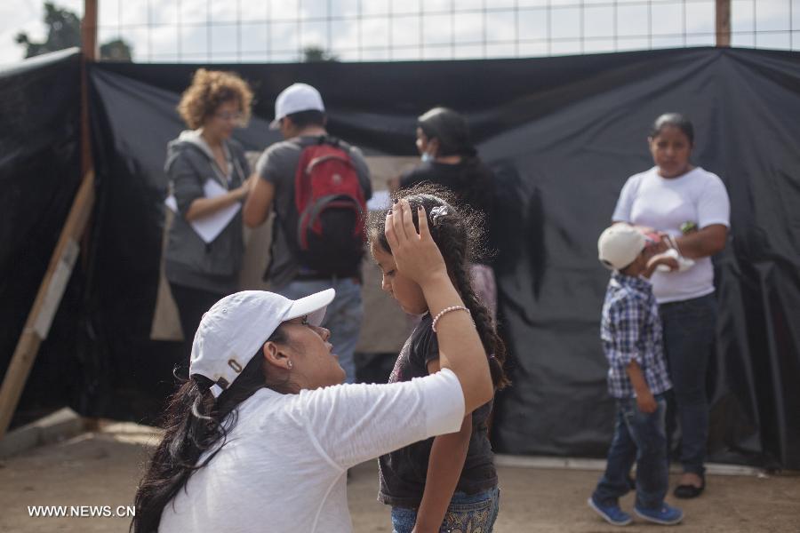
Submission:
M 58 311 L 61 297 L 67 289 L 72 268 L 75 266 L 80 246 L 94 205 L 94 169 L 92 164 L 92 135 L 89 130 L 89 91 L 86 63 L 94 60 L 97 48 L 97 0 L 84 0 L 84 20 L 81 25 L 83 61 L 81 67 L 81 186 L 69 210 L 67 221 L 61 228 L 59 242 L 52 253 L 50 265 L 39 285 L 36 299 L 14 349 L 12 360 L 5 371 L 0 386 L 0 439 L 20 402 L 22 390 L 28 381 L 30 369 L 42 341 L 47 338 L 52 319 Z

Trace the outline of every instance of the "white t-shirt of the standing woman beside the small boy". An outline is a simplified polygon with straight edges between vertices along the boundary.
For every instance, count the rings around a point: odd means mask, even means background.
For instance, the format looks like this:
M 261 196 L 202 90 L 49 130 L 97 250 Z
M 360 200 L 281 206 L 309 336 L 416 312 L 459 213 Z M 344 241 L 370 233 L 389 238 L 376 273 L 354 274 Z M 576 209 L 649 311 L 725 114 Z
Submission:
M 722 179 L 696 167 L 679 178 L 661 178 L 658 167 L 635 174 L 622 187 L 614 209 L 614 222 L 648 226 L 681 235 L 684 222 L 699 229 L 711 224 L 730 227 L 731 203 Z M 660 303 L 700 298 L 714 292 L 711 258 L 694 259 L 684 272 L 652 274 L 652 292 Z

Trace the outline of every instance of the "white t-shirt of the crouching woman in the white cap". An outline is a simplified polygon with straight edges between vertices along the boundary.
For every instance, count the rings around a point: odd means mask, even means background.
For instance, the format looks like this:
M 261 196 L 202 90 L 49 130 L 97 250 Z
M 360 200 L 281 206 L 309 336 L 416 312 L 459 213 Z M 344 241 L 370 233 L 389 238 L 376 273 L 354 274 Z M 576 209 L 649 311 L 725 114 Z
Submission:
M 388 385 L 261 389 L 239 406 L 228 443 L 164 507 L 158 531 L 352 531 L 348 468 L 459 431 L 463 418 L 447 369 Z

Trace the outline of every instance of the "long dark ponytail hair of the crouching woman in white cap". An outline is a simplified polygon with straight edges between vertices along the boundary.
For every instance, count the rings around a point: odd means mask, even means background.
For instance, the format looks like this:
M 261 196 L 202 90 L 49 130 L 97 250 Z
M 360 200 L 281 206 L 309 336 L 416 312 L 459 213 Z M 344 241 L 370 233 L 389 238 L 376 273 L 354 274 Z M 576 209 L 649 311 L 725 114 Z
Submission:
M 278 327 L 268 340 L 285 344 L 288 337 L 283 328 Z M 280 393 L 290 392 L 286 381 L 270 383 L 267 364 L 259 349 L 216 400 L 210 390 L 212 380 L 197 374 L 172 394 L 164 415 L 164 439 L 153 453 L 136 491 L 132 531 L 152 533 L 158 530 L 164 507 L 186 486 L 189 477 L 208 465 L 225 446 L 228 432 L 236 426 L 236 407 L 240 403 L 265 387 Z M 210 449 L 214 451 L 203 463 L 197 464 L 200 456 Z

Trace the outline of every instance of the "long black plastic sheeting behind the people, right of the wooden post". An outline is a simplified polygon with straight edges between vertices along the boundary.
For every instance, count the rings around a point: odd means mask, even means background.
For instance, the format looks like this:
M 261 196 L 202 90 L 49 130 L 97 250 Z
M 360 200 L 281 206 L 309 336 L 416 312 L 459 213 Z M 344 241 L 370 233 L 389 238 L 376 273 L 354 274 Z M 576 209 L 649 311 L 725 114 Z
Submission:
M 197 66 L 93 66 L 99 202 L 88 270 L 84 356 L 106 388 L 86 410 L 154 416 L 177 343 L 150 341 L 174 107 Z M 295 81 L 323 93 L 333 134 L 369 154 L 413 155 L 415 116 L 468 116 L 497 172 L 500 316 L 514 386 L 500 394 L 496 449 L 602 457 L 612 433 L 599 314 L 608 273 L 596 238 L 628 176 L 652 165 L 648 126 L 692 117 L 695 163 L 722 177 L 732 237 L 716 258 L 720 300 L 708 375 L 711 459 L 800 468 L 800 54 L 688 49 L 534 60 L 215 65 L 248 79 L 256 119 Z M 793 318 L 794 317 L 794 318 Z M 166 377 L 166 378 L 165 378 Z

